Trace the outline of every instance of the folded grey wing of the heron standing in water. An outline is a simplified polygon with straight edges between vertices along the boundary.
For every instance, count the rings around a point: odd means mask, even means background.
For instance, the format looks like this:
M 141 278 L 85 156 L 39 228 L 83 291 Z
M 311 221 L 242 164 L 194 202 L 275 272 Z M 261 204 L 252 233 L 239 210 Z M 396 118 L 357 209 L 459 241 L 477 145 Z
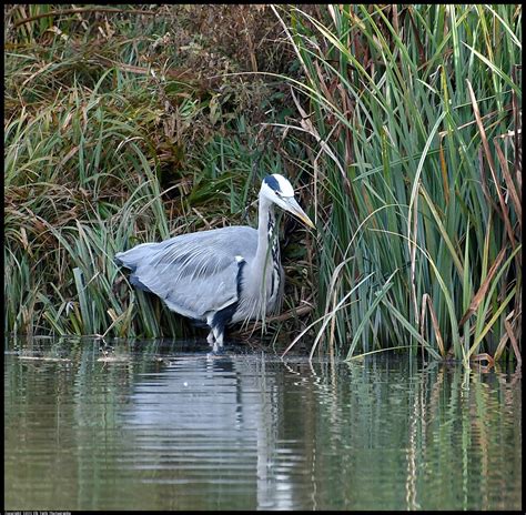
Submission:
M 237 301 L 240 261 L 250 261 L 257 232 L 246 226 L 182 234 L 115 254 L 130 282 L 159 295 L 173 311 L 204 320 Z

